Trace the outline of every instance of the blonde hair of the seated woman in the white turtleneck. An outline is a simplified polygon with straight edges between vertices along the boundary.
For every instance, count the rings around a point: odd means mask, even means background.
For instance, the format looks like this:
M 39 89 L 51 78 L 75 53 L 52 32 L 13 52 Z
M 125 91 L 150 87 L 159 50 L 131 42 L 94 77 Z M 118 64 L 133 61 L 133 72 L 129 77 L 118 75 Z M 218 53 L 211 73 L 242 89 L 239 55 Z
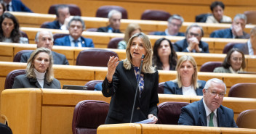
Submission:
M 50 51 L 47 48 L 39 48 L 39 49 L 36 49 L 35 51 L 33 51 L 33 53 L 31 54 L 31 57 L 28 59 L 28 64 L 27 64 L 27 68 L 26 68 L 26 74 L 27 74 L 26 76 L 27 76 L 27 78 L 36 79 L 36 74 L 33 71 L 35 69 L 34 61 L 36 59 L 36 56 L 39 53 L 47 53 L 49 55 L 49 67 L 46 70 L 45 78 L 47 79 L 48 83 L 52 83 L 52 80 L 54 78 L 53 69 L 52 69 L 52 64 L 53 64 L 52 51 Z

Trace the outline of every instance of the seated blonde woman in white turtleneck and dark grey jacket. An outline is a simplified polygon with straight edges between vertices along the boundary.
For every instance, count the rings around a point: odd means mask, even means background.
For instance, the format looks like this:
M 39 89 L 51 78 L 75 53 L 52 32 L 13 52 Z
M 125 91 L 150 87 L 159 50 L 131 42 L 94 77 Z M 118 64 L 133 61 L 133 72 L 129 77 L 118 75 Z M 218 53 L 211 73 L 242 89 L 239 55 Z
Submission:
M 59 80 L 53 75 L 52 51 L 39 48 L 33 51 L 28 59 L 25 75 L 18 75 L 12 88 L 57 88 L 60 89 Z

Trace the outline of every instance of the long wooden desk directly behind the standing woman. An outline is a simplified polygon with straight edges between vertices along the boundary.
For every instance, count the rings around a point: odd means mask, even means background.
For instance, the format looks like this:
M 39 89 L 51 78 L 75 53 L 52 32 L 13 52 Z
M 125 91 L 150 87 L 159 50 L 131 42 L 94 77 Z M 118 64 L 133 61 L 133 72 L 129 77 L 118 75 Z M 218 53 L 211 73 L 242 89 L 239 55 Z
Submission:
M 159 94 L 160 102 L 191 102 L 192 99 L 199 100 L 201 96 L 192 98 Z M 70 134 L 72 133 L 73 109 L 79 101 L 83 100 L 110 102 L 110 98 L 105 98 L 99 91 L 7 89 L 1 93 L 1 117 L 8 121 L 13 133 Z M 244 109 L 256 109 L 256 99 L 224 98 L 223 104 L 227 107 L 238 107 L 234 109 L 235 114 Z

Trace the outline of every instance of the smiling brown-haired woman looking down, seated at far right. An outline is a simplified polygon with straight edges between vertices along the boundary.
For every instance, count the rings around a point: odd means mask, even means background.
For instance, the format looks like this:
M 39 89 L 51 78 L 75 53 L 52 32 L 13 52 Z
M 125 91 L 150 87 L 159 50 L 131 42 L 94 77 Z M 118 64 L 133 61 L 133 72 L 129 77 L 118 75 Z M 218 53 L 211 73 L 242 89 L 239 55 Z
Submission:
M 244 53 L 239 49 L 233 48 L 228 51 L 227 56 L 225 56 L 223 67 L 216 67 L 213 72 L 238 73 L 244 72 L 245 67 Z

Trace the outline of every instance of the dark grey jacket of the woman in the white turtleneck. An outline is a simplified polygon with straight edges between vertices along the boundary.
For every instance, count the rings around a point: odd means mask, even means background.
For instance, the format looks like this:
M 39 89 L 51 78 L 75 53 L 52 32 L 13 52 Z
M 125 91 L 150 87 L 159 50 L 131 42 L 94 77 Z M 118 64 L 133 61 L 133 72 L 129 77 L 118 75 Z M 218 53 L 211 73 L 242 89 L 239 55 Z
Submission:
M 48 83 L 44 79 L 44 87 L 41 87 L 39 82 L 33 78 L 27 78 L 25 75 L 18 75 L 15 77 L 15 81 L 12 88 L 56 88 L 60 89 L 60 82 L 57 79 L 53 79 L 52 83 Z

